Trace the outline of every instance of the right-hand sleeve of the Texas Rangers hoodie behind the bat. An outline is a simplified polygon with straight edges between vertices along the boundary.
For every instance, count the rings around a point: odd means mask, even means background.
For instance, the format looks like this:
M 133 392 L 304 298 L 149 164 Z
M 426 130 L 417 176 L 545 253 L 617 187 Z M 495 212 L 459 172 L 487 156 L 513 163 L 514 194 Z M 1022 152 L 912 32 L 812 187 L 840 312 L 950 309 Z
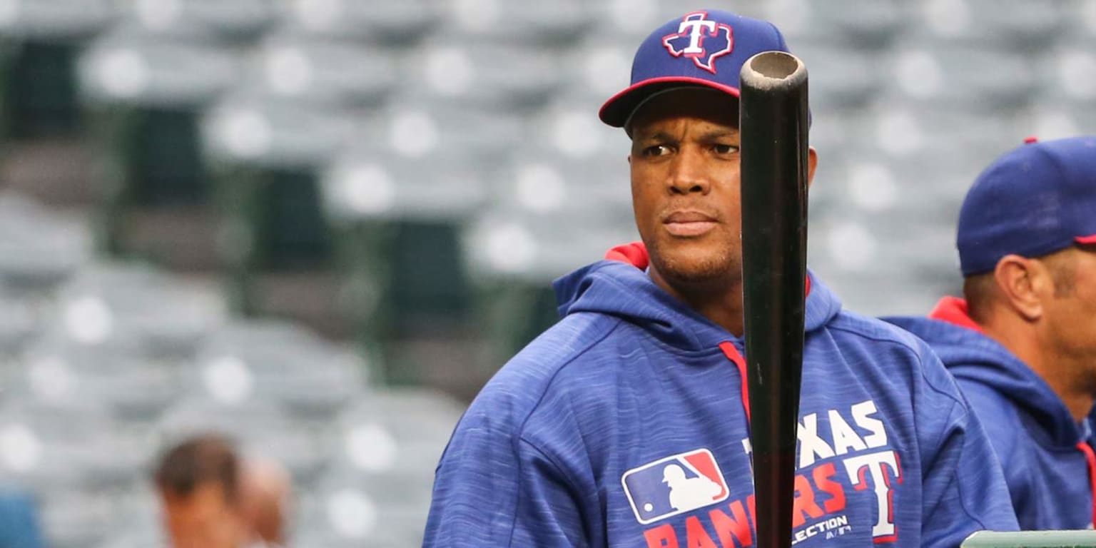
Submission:
M 933 365 L 927 362 L 939 363 L 932 354 L 925 361 L 926 368 Z M 929 447 L 935 447 L 933 457 L 923 463 L 923 546 L 940 548 L 959 546 L 977 530 L 1018 530 L 990 439 L 958 389 L 952 392 L 955 381 L 946 383 L 950 386 L 938 403 L 949 402 L 950 409 L 947 414 L 939 412 L 943 406 L 929 411 L 947 420 Z

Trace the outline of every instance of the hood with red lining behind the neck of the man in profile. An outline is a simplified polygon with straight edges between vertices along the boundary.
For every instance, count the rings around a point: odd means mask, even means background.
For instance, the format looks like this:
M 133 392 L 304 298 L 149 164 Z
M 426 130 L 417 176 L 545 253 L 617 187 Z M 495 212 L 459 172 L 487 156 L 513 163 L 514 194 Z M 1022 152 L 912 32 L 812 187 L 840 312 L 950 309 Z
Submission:
M 1040 437 L 1048 437 L 1048 445 L 1072 447 L 1082 438 L 1081 426 L 1050 385 L 1001 343 L 983 334 L 968 316 L 963 299 L 945 297 L 927 318 L 883 320 L 927 342 L 961 384 L 983 385 L 1023 409 L 1044 431 Z

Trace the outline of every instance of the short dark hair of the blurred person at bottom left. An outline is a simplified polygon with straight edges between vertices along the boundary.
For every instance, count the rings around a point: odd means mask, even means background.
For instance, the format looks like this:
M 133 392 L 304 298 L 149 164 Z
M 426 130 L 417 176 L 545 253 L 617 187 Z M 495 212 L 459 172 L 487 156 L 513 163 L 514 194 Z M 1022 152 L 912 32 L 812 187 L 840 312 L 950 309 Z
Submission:
M 169 448 L 152 478 L 162 492 L 179 496 L 189 496 L 198 486 L 215 483 L 225 490 L 229 502 L 236 502 L 239 476 L 240 459 L 232 443 L 217 434 L 203 434 Z

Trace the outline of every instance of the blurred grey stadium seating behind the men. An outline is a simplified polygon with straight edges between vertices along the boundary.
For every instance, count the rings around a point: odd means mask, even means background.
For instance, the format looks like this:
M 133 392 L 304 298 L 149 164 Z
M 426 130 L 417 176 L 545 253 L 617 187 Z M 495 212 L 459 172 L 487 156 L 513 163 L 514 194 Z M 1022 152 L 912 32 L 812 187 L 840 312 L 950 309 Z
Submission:
M 0 0 L 0 487 L 155 546 L 149 466 L 216 429 L 293 472 L 292 546 L 418 546 L 548 283 L 636 239 L 596 111 L 682 5 Z M 1096 1 L 704 7 L 807 61 L 810 264 L 858 311 L 955 293 L 979 169 L 1096 127 Z

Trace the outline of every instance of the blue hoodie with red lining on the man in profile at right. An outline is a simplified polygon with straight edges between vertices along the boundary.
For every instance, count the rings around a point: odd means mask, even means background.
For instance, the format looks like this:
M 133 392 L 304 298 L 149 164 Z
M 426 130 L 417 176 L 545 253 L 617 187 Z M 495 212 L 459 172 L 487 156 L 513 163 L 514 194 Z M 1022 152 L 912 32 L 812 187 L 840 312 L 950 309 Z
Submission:
M 1073 420 L 1039 375 L 982 334 L 961 299 L 945 298 L 929 318 L 887 320 L 924 339 L 955 375 L 1001 459 L 1020 528 L 1091 528 L 1088 420 Z

